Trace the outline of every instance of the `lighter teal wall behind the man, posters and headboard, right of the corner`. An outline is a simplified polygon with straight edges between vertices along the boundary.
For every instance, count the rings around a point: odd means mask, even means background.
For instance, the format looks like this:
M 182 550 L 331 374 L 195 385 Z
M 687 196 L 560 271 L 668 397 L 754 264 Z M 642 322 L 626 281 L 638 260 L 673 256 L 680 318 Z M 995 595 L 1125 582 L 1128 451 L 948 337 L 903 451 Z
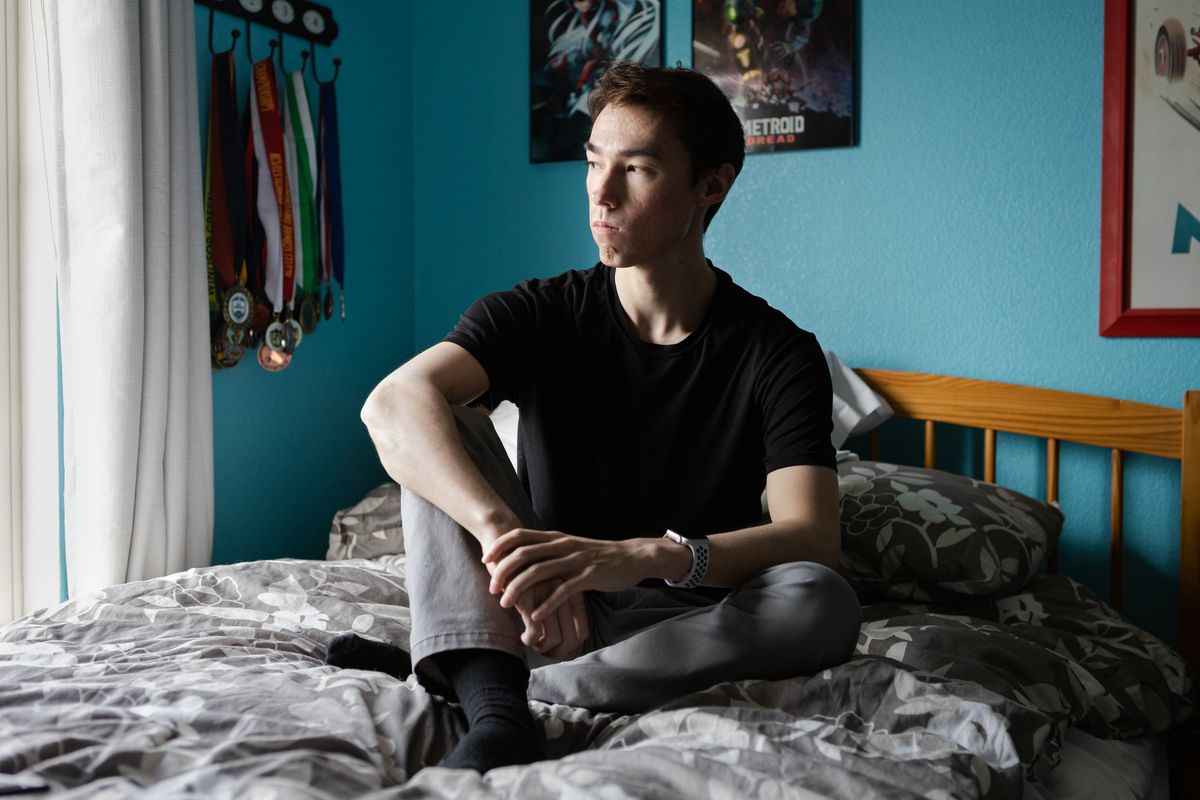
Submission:
M 690 4 L 667 6 L 667 61 L 690 64 Z M 852 365 L 1178 407 L 1200 387 L 1200 342 L 1097 333 L 1103 4 L 860 6 L 859 145 L 748 158 L 709 255 Z M 528 163 L 524 14 L 469 2 L 413 17 L 424 348 L 479 294 L 595 249 L 582 162 Z M 964 447 L 946 464 L 978 458 L 976 439 L 950 440 Z M 1000 480 L 1043 492 L 1042 452 L 1002 435 Z M 1106 594 L 1108 456 L 1063 458 L 1061 564 Z M 1130 457 L 1127 488 L 1128 608 L 1174 638 L 1177 470 Z

